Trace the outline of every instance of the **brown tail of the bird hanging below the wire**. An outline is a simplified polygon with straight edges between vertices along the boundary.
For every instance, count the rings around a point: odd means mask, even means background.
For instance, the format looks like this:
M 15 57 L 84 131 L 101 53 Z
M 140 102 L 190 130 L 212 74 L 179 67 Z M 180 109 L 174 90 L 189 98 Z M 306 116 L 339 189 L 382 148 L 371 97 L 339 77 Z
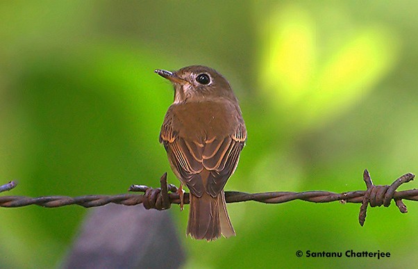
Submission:
M 224 190 L 212 197 L 203 193 L 201 197 L 190 193 L 189 222 L 187 235 L 194 239 L 212 241 L 221 236 L 235 236 L 234 228 L 226 211 Z

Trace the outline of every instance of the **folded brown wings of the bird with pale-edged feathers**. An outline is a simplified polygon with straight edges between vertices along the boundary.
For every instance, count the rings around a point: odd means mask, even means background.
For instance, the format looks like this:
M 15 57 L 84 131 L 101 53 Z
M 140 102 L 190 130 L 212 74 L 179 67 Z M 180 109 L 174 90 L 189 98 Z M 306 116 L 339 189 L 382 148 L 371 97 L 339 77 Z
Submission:
M 212 197 L 220 193 L 237 167 L 245 141 L 244 122 L 237 124 L 235 132 L 229 136 L 215 136 L 204 141 L 178 136 L 169 118 L 165 119 L 160 132 L 160 142 L 165 146 L 174 172 L 197 197 L 201 197 L 205 190 Z M 209 171 L 206 186 L 201 178 L 203 168 Z

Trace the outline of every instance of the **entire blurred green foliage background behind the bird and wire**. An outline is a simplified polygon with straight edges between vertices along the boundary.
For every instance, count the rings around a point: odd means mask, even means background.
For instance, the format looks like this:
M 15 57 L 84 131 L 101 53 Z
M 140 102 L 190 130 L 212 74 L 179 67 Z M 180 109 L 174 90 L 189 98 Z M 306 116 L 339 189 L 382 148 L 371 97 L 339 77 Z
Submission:
M 364 189 L 364 168 L 390 184 L 418 172 L 417 12 L 411 1 L 1 1 L 0 177 L 19 181 L 12 195 L 156 186 L 170 171 L 158 132 L 173 96 L 153 70 L 203 64 L 230 80 L 249 130 L 228 190 Z M 229 204 L 237 236 L 184 238 L 185 267 L 416 263 L 417 204 L 370 209 L 365 227 L 358 209 Z M 184 234 L 187 213 L 171 211 Z M 0 267 L 57 266 L 85 212 L 1 209 Z M 295 255 L 351 249 L 392 256 Z

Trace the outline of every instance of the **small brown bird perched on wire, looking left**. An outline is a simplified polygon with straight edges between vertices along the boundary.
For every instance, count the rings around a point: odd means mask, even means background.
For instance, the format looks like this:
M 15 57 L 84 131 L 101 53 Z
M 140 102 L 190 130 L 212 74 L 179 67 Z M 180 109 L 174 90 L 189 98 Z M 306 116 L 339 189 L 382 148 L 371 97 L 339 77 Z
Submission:
M 246 141 L 237 98 L 224 76 L 209 67 L 155 72 L 174 85 L 174 103 L 165 114 L 160 142 L 180 189 L 186 185 L 190 190 L 186 234 L 207 241 L 221 234 L 235 236 L 224 187 Z

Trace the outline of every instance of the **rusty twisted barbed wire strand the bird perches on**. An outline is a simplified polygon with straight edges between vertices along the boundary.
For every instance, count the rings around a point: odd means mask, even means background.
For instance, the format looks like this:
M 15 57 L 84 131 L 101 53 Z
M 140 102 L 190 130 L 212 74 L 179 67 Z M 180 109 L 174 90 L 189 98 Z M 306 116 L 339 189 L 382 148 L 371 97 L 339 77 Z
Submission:
M 268 192 L 268 193 L 241 193 L 237 191 L 226 191 L 225 199 L 227 203 L 237 203 L 246 201 L 256 201 L 265 204 L 281 204 L 296 199 L 306 202 L 327 203 L 340 201 L 341 203 L 361 203 L 358 220 L 363 226 L 366 220 L 367 207 L 374 206 L 390 206 L 392 199 L 398 206 L 401 213 L 407 213 L 406 204 L 402 199 L 418 201 L 418 190 L 402 190 L 396 191 L 399 186 L 414 179 L 412 173 L 403 174 L 396 179 L 390 186 L 374 185 L 371 181 L 369 171 L 363 172 L 363 179 L 366 183 L 367 190 L 355 190 L 345 193 L 332 193 L 322 190 L 306 191 L 301 193 L 294 192 Z M 8 184 L 0 186 L 0 193 L 12 190 L 17 183 L 10 181 Z M 86 208 L 93 206 L 103 206 L 105 204 L 123 204 L 126 206 L 134 206 L 143 204 L 145 209 L 166 210 L 172 204 L 181 204 L 178 195 L 178 188 L 173 184 L 167 184 L 167 173 L 163 174 L 160 179 L 160 188 L 150 188 L 144 185 L 132 185 L 128 191 L 142 192 L 138 194 L 121 194 L 121 195 L 85 195 L 79 197 L 68 196 L 45 196 L 45 197 L 25 197 L 25 196 L 1 196 L 0 207 L 21 207 L 35 204 L 47 208 L 68 206 L 76 204 Z M 170 192 L 170 193 L 169 193 Z M 189 204 L 189 194 L 184 193 L 184 204 Z

